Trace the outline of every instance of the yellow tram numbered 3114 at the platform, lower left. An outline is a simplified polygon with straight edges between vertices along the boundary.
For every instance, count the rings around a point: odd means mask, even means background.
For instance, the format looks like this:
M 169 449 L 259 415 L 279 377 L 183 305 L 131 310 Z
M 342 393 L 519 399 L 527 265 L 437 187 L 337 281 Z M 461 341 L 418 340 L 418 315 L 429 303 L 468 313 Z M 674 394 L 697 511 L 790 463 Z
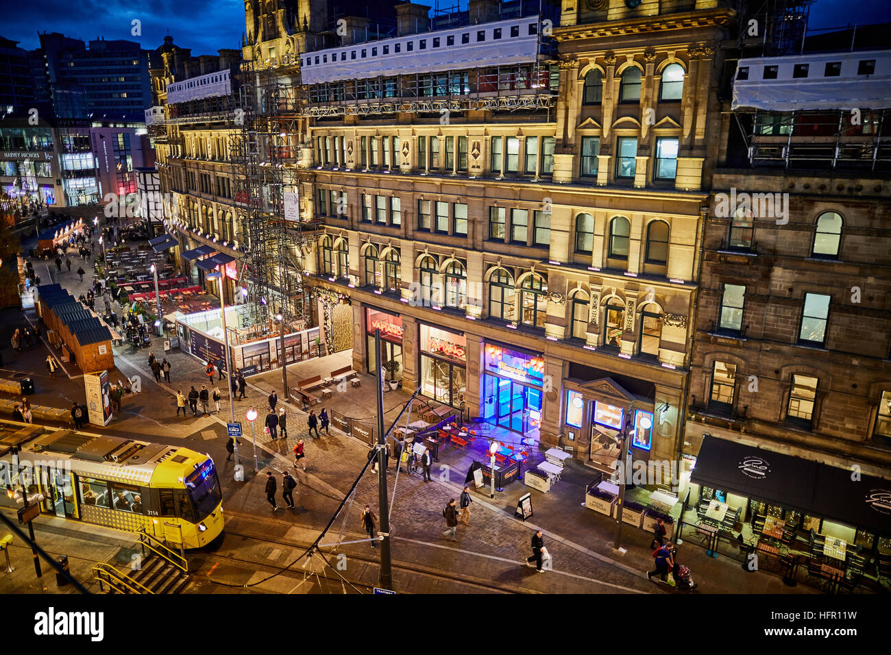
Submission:
M 24 485 L 44 514 L 185 548 L 223 532 L 217 469 L 188 448 L 0 420 L 0 480 L 0 507 L 20 508 Z

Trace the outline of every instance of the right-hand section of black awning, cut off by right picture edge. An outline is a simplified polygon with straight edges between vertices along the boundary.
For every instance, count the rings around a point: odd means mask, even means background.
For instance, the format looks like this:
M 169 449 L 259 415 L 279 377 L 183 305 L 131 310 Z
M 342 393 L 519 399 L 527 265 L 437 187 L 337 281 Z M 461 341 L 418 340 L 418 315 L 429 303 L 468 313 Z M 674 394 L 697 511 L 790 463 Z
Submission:
M 891 481 L 827 464 L 817 468 L 813 489 L 814 512 L 866 528 L 879 535 L 891 535 Z M 819 509 L 819 512 L 817 510 Z

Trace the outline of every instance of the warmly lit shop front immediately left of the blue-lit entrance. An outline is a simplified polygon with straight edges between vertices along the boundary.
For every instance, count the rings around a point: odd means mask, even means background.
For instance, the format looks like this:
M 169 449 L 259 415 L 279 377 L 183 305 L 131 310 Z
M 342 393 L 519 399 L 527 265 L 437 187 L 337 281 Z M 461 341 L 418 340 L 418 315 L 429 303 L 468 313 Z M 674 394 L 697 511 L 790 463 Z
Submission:
M 467 340 L 463 332 L 448 332 L 421 324 L 421 395 L 459 407 L 467 390 Z

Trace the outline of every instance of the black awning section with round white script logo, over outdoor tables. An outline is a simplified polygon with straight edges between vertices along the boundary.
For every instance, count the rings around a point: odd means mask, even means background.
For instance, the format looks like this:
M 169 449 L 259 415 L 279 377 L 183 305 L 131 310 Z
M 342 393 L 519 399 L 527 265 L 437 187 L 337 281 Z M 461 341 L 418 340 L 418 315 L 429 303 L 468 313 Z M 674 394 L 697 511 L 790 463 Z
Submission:
M 789 509 L 813 510 L 816 462 L 706 436 L 691 481 Z

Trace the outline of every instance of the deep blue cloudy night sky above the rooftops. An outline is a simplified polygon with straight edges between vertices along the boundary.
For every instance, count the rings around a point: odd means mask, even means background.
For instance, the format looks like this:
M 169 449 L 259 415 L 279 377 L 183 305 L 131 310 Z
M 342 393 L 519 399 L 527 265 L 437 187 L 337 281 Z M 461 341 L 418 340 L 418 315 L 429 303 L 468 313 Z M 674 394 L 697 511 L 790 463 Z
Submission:
M 85 41 L 95 37 L 124 38 L 150 50 L 170 34 L 176 45 L 192 48 L 193 55 L 216 54 L 220 48 L 241 48 L 244 29 L 241 0 L 28 0 L 4 4 L 0 36 L 20 41 L 20 47 L 29 50 L 39 45 L 37 33 L 47 31 Z M 462 0 L 461 5 L 466 8 L 467 0 Z M 141 37 L 130 34 L 134 19 L 142 20 Z M 810 27 L 889 20 L 889 0 L 817 0 L 811 7 Z

